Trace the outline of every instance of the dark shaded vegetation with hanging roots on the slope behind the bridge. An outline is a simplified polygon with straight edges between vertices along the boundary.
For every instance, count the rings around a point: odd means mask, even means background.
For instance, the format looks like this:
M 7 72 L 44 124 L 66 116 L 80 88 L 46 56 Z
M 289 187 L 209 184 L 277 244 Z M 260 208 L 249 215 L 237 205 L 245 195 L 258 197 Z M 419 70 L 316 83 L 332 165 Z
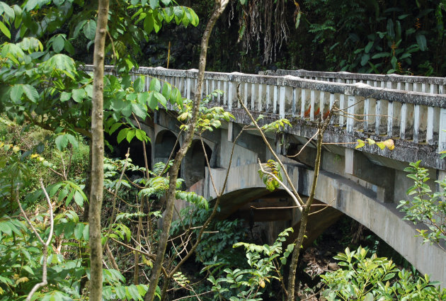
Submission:
M 184 1 L 200 18 L 207 1 Z M 307 69 L 445 76 L 446 2 L 248 0 L 235 2 L 219 21 L 210 44 L 209 68 L 222 72 Z M 229 26 L 228 26 L 229 25 Z M 198 27 L 200 28 L 200 26 Z M 147 45 L 141 64 L 196 67 L 199 30 L 182 40 L 178 30 Z M 182 32 L 181 32 L 182 33 Z

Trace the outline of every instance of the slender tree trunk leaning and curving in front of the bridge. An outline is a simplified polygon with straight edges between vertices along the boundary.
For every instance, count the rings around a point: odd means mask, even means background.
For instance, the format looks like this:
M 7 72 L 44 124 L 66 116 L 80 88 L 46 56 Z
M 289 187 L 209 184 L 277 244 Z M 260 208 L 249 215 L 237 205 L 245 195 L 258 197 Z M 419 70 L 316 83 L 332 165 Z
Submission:
M 202 94 L 202 83 L 205 77 L 205 67 L 206 67 L 206 55 L 207 55 L 207 43 L 209 42 L 210 34 L 215 22 L 219 16 L 224 11 L 229 0 L 215 0 L 215 7 L 210 20 L 207 22 L 205 33 L 203 33 L 201 40 L 201 53 L 200 53 L 200 63 L 198 71 L 197 86 L 195 87 L 195 98 L 192 109 L 192 118 L 188 121 L 188 132 L 185 135 L 185 140 L 180 150 L 176 153 L 175 159 L 173 160 L 173 165 L 169 169 L 169 183 L 168 191 L 166 193 L 166 211 L 163 219 L 163 228 L 159 238 L 158 250 L 156 251 L 156 259 L 154 263 L 154 268 L 151 271 L 149 290 L 145 297 L 146 301 L 153 301 L 155 296 L 156 286 L 159 282 L 159 276 L 161 274 L 161 267 L 164 261 L 164 254 L 166 253 L 166 246 L 169 237 L 169 232 L 171 229 L 171 222 L 173 217 L 173 205 L 175 203 L 175 193 L 176 193 L 176 180 L 178 178 L 178 170 L 180 169 L 181 160 L 185 156 L 185 153 L 190 147 L 190 143 L 193 140 L 193 135 L 195 132 L 195 123 L 197 122 L 198 110 L 200 107 L 201 94 Z

